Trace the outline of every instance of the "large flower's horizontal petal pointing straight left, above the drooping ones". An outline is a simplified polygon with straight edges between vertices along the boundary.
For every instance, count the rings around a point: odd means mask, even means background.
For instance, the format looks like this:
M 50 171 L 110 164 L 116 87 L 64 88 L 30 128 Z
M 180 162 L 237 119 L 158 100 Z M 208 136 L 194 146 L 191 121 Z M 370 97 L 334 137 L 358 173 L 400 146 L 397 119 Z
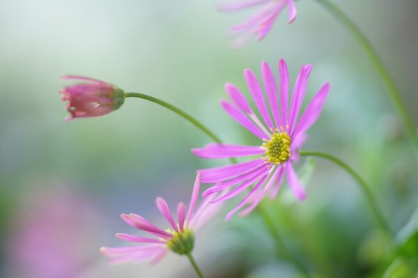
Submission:
M 192 148 L 192 153 L 205 158 L 240 157 L 262 155 L 265 150 L 260 146 L 238 146 L 228 144 L 208 144 L 204 148 Z

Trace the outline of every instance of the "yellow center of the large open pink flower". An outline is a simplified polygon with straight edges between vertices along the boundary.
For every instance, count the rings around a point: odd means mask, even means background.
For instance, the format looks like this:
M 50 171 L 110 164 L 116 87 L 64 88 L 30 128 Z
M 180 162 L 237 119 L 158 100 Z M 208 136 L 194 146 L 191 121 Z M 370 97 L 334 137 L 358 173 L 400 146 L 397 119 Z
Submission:
M 281 164 L 286 162 L 291 156 L 291 137 L 287 132 L 283 130 L 273 133 L 273 136 L 270 140 L 263 143 L 265 148 L 265 157 L 268 161 Z

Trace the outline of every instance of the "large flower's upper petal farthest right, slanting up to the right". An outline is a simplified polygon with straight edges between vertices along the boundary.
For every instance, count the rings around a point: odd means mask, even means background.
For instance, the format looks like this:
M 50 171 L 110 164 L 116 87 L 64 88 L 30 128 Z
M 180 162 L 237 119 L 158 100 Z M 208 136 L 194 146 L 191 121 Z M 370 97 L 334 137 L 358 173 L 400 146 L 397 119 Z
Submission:
M 299 133 L 304 134 L 318 120 L 329 92 L 330 83 L 323 84 L 300 117 L 292 137 L 297 137 Z

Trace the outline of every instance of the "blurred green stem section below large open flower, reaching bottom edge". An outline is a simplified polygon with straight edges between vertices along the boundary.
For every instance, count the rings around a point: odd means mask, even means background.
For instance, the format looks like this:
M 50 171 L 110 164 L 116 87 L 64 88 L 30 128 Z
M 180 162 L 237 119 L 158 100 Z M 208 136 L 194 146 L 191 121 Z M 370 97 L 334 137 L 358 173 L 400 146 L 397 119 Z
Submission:
M 274 223 L 272 222 L 272 219 L 270 218 L 270 215 L 268 214 L 268 211 L 263 207 L 262 204 L 260 204 L 258 207 L 258 212 L 263 217 L 263 220 L 265 222 L 265 225 L 268 227 L 268 230 L 270 231 L 270 234 L 274 238 L 277 244 L 277 253 L 281 254 L 286 258 L 287 261 L 292 263 L 297 270 L 300 271 L 304 277 L 309 277 L 309 271 L 305 266 L 293 256 L 293 254 L 288 250 L 286 245 L 284 244 L 283 240 L 281 239 L 281 235 L 279 231 L 277 230 L 276 226 L 274 226 Z

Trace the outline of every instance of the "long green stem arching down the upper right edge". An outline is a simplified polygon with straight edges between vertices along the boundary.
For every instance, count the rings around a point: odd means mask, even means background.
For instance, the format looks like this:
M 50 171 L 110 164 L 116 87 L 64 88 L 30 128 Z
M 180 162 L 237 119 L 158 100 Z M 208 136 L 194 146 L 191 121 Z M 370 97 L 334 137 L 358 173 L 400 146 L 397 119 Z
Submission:
M 412 141 L 412 144 L 418 149 L 418 134 L 415 129 L 414 123 L 412 123 L 410 116 L 405 109 L 405 105 L 401 100 L 401 95 L 396 88 L 396 84 L 394 80 L 390 77 L 389 72 L 383 65 L 382 61 L 380 60 L 376 50 L 373 48 L 369 40 L 364 36 L 364 33 L 360 31 L 360 29 L 355 25 L 355 23 L 347 17 L 343 11 L 334 5 L 329 0 L 316 0 L 318 3 L 321 3 L 334 17 L 336 17 L 341 24 L 350 32 L 353 37 L 357 40 L 357 42 L 362 45 L 364 51 L 369 56 L 371 62 L 375 66 L 376 70 L 378 71 L 380 77 L 382 77 L 383 83 L 387 88 L 387 93 L 389 93 L 389 97 L 392 100 L 396 111 L 398 112 L 398 116 L 401 118 L 401 122 L 403 123 L 403 127 L 405 128 L 408 137 Z

